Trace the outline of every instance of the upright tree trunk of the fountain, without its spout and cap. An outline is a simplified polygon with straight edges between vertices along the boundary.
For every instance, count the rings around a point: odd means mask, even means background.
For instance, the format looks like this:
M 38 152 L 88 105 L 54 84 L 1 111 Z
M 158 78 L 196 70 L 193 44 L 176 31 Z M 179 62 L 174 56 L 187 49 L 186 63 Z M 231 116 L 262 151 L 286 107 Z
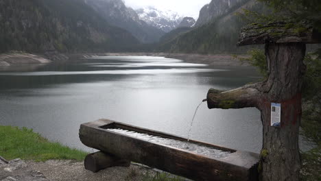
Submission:
M 298 134 L 305 44 L 266 44 L 265 55 L 269 77 L 258 97 L 263 125 L 259 174 L 261 180 L 295 181 L 300 171 Z M 281 128 L 271 126 L 271 102 L 281 104 Z

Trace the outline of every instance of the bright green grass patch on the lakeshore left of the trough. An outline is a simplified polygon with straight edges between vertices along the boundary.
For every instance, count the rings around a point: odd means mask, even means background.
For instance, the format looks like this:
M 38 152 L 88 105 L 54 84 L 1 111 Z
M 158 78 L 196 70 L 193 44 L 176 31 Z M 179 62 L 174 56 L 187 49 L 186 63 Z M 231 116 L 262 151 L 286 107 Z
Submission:
M 8 160 L 84 160 L 86 152 L 51 143 L 27 128 L 0 125 L 0 156 Z

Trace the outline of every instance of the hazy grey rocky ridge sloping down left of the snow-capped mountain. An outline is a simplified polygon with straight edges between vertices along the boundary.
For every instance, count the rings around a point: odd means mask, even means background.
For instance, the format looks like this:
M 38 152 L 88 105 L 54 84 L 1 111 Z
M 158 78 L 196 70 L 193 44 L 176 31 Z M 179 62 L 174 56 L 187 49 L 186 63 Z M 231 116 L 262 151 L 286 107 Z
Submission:
M 164 32 L 139 19 L 132 8 L 126 7 L 121 0 L 84 0 L 96 12 L 102 15 L 110 25 L 121 27 L 130 32 L 141 43 L 154 43 Z

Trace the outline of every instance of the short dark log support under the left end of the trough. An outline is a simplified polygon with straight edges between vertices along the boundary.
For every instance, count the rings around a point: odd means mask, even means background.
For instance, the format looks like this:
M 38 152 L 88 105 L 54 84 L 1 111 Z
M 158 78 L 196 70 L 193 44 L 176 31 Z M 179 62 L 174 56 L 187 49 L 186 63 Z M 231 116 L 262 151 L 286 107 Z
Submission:
M 93 154 L 88 154 L 84 160 L 85 169 L 93 171 L 94 173 L 108 167 L 116 166 L 129 167 L 130 161 L 104 152 L 95 152 Z

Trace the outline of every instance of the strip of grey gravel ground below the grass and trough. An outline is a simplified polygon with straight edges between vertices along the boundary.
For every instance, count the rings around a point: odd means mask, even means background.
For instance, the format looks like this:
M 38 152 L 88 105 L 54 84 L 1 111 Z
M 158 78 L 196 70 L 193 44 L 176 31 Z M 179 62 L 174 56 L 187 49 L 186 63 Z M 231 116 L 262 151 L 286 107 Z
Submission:
M 93 173 L 84 169 L 83 162 L 73 160 L 0 160 L 1 181 L 138 181 L 144 180 L 146 176 L 155 176 L 156 173 L 154 169 L 135 164 L 130 167 L 111 167 Z

